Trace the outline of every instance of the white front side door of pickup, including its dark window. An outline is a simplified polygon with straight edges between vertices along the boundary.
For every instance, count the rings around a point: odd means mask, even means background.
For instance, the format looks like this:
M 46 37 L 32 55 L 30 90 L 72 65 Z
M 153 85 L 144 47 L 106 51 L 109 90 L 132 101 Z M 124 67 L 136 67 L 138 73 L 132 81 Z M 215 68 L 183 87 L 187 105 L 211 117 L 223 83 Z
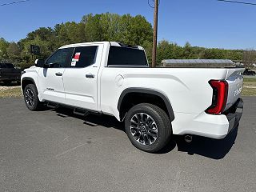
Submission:
M 42 98 L 50 102 L 66 103 L 63 86 L 63 74 L 66 66 L 70 66 L 74 48 L 57 50 L 46 60 L 50 68 L 41 68 L 38 72 L 39 91 Z

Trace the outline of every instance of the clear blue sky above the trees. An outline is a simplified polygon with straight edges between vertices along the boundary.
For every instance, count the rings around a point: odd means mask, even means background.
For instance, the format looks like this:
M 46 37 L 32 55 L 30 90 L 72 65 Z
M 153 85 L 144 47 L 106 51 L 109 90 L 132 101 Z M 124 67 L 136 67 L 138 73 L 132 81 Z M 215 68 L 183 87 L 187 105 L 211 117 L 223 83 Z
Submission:
M 19 0 L 0 0 L 0 5 Z M 152 0 L 150 0 L 152 1 Z M 240 0 L 255 2 L 256 0 Z M 153 26 L 148 0 L 30 0 L 0 6 L 0 38 L 18 42 L 41 26 L 80 22 L 85 14 L 142 14 Z M 256 6 L 217 0 L 160 0 L 158 41 L 184 46 L 247 49 L 256 47 Z

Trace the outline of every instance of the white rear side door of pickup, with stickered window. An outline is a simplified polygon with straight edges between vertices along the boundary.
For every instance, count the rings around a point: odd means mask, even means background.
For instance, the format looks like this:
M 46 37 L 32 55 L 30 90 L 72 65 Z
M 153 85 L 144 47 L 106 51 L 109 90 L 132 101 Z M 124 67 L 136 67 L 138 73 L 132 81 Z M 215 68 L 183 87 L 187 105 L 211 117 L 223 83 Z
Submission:
M 98 70 L 102 50 L 102 44 L 75 48 L 70 67 L 66 68 L 63 76 L 67 105 L 98 110 Z

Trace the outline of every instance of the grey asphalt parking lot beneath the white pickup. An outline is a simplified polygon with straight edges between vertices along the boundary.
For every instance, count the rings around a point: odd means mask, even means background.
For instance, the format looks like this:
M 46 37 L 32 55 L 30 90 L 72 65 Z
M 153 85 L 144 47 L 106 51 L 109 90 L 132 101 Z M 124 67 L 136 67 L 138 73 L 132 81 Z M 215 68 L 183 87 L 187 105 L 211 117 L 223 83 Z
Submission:
M 256 97 L 225 139 L 175 137 L 158 154 L 131 145 L 122 123 L 0 99 L 0 191 L 256 191 Z

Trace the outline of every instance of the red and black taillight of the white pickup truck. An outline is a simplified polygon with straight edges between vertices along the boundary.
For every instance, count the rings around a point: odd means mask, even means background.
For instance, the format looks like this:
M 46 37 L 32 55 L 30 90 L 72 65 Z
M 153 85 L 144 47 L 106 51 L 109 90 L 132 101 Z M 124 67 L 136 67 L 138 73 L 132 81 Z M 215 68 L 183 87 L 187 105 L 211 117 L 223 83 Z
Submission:
M 211 106 L 206 110 L 207 114 L 222 114 L 226 106 L 226 98 L 229 84 L 226 81 L 210 80 L 213 88 L 213 99 Z

